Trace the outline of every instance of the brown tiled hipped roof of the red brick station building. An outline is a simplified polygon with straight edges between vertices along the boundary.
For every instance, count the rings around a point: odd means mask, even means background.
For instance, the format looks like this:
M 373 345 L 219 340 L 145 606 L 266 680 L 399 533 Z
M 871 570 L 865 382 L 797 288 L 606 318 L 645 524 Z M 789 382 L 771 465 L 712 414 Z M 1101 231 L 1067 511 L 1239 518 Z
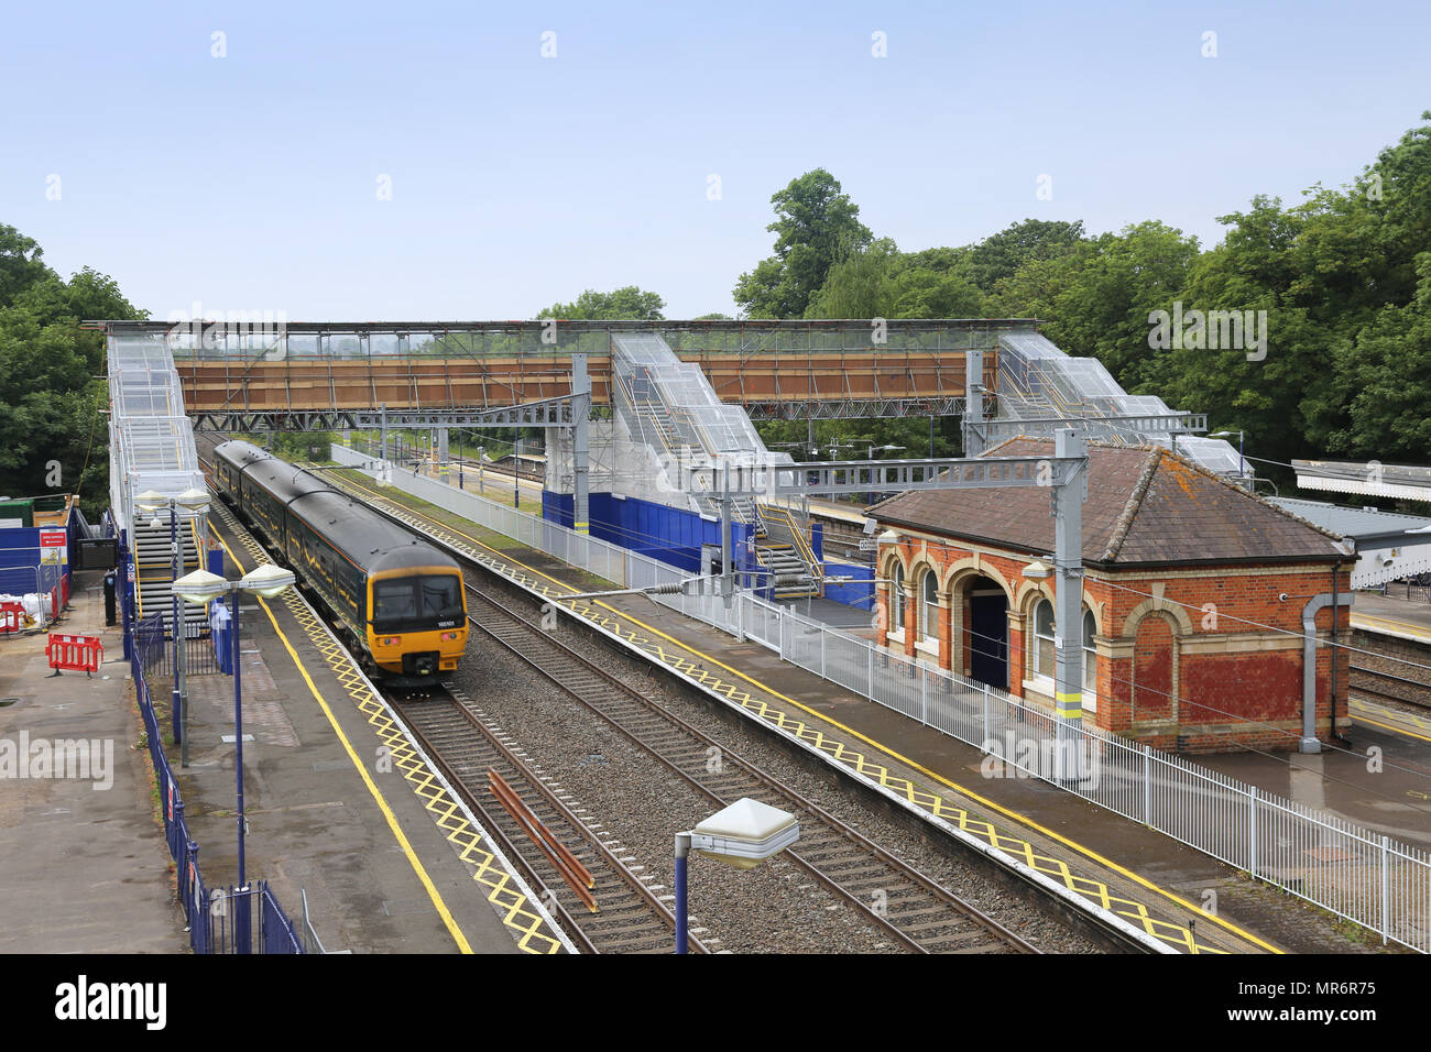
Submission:
M 989 457 L 1049 457 L 1053 442 L 1015 438 Z M 1162 447 L 1090 442 L 1083 561 L 1092 565 L 1331 561 L 1337 538 Z M 870 510 L 881 525 L 1036 554 L 1053 551 L 1050 492 L 922 490 Z

